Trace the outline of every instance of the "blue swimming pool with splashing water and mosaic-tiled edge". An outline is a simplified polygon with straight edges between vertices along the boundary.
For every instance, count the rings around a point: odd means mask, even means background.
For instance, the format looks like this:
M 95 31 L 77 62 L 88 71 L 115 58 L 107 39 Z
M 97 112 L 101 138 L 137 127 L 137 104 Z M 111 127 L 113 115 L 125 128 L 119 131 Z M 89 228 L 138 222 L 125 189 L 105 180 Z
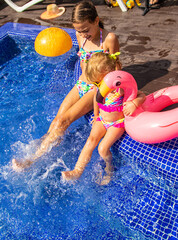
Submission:
M 108 186 L 96 184 L 97 151 L 77 184 L 64 184 L 61 171 L 74 167 L 90 132 L 82 118 L 29 171 L 12 171 L 12 157 L 35 150 L 80 73 L 74 30 L 67 29 L 72 50 L 50 59 L 34 51 L 42 29 L 0 28 L 0 238 L 178 239 L 177 139 L 147 145 L 125 134 L 112 149 L 116 172 Z

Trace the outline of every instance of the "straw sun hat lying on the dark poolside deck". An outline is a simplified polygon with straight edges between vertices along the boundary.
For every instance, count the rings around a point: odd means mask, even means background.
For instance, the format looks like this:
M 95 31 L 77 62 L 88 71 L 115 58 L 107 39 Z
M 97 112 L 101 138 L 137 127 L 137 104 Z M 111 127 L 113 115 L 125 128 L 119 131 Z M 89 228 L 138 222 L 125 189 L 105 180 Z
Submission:
M 41 14 L 42 19 L 52 19 L 61 16 L 65 12 L 64 7 L 59 7 L 56 4 L 49 4 L 47 11 Z

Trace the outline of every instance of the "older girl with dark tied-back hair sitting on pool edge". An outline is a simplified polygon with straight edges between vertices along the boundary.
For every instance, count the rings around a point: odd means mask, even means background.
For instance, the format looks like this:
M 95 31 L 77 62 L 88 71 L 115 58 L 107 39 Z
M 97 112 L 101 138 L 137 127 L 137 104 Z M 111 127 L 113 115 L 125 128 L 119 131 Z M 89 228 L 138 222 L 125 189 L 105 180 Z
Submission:
M 119 51 L 118 38 L 114 33 L 110 33 L 103 28 L 92 2 L 81 1 L 75 6 L 72 13 L 72 23 L 76 30 L 80 48 L 78 54 L 81 60 L 82 74 L 62 102 L 36 153 L 30 159 L 12 160 L 12 167 L 15 171 L 28 168 L 33 162 L 37 161 L 55 143 L 61 141 L 65 130 L 72 122 L 93 109 L 94 86 L 88 82 L 85 76 L 86 62 L 89 57 L 97 51 L 107 51 L 111 54 Z

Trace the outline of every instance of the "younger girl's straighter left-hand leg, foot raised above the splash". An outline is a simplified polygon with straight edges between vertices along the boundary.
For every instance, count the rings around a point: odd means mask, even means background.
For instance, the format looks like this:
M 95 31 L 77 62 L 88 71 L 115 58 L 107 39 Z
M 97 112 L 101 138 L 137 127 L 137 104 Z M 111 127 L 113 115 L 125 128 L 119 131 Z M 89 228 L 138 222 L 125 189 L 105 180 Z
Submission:
M 93 125 L 90 136 L 80 153 L 74 170 L 62 172 L 63 179 L 67 181 L 75 180 L 82 175 L 83 171 L 86 168 L 86 165 L 90 162 L 95 147 L 98 145 L 99 141 L 105 135 L 105 133 L 106 129 L 103 127 L 101 122 L 96 122 Z

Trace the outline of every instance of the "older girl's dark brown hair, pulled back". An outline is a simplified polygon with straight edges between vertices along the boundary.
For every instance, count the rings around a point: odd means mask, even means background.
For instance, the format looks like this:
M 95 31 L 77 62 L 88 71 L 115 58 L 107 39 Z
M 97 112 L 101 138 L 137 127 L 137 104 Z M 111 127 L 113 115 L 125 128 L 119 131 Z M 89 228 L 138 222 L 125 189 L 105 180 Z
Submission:
M 88 21 L 93 23 L 98 17 L 95 5 L 91 1 L 81 1 L 76 4 L 72 12 L 72 23 L 81 23 Z M 99 21 L 99 27 L 104 28 L 104 25 Z

